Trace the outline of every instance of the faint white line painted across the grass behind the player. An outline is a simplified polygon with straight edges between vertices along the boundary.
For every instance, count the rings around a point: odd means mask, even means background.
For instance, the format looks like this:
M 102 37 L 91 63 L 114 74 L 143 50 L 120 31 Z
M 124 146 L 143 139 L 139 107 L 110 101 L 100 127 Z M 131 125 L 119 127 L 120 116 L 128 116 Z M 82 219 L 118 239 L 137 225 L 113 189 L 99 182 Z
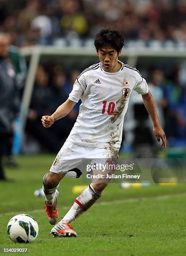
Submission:
M 172 195 L 161 195 L 157 197 L 139 197 L 139 198 L 128 198 L 128 199 L 121 199 L 121 200 L 114 200 L 114 201 L 109 201 L 109 202 L 98 202 L 94 206 L 99 206 L 99 205 L 113 205 L 117 203 L 128 203 L 128 202 L 138 202 L 138 201 L 147 201 L 147 200 L 164 200 L 164 199 L 169 199 L 171 197 L 180 197 L 180 196 L 186 196 L 186 193 L 180 193 L 180 194 L 172 194 Z M 68 210 L 70 206 L 64 206 L 60 207 L 60 210 Z M 44 209 L 38 209 L 38 210 L 28 210 L 28 213 L 30 214 L 31 212 L 44 212 Z M 0 217 L 3 217 L 5 215 L 16 215 L 19 214 L 20 212 L 5 212 L 3 214 L 0 214 Z M 23 211 L 24 213 L 24 211 Z

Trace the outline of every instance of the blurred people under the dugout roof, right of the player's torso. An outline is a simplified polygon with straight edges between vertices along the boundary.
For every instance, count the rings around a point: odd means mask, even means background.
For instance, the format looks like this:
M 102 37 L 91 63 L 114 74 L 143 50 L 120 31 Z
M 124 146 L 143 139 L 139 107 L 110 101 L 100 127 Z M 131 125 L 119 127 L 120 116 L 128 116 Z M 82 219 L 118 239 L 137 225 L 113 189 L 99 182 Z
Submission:
M 139 67 L 151 91 L 168 147 L 186 147 L 186 64 L 167 64 L 164 67 Z M 150 117 L 141 95 L 131 93 L 129 108 L 124 122 L 124 151 L 139 147 L 138 156 L 143 154 L 141 146 L 149 145 L 156 152 L 158 144 L 153 133 Z

